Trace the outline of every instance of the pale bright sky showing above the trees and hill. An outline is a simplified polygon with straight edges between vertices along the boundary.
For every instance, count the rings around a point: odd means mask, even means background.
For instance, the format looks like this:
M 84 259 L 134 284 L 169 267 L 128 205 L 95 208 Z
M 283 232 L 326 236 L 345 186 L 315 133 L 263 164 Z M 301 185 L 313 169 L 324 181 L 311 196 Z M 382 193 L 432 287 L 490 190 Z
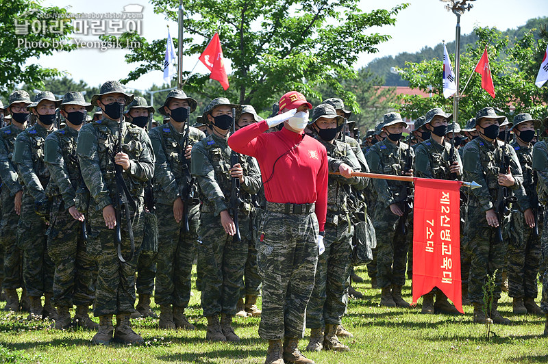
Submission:
M 379 6 L 389 9 L 402 2 L 362 0 L 361 6 L 366 11 Z M 378 31 L 381 34 L 389 34 L 392 39 L 381 44 L 378 47 L 378 53 L 360 55 L 356 68 L 365 66 L 376 57 L 396 55 L 401 52 L 415 52 L 425 46 L 433 47 L 442 40 L 446 42 L 454 40 L 456 16 L 444 9 L 444 3 L 438 0 L 408 0 L 408 2 L 410 3 L 409 8 L 399 14 L 395 26 L 371 29 L 371 31 Z M 116 5 L 113 5 L 114 3 Z M 162 15 L 154 14 L 152 6 L 147 1 L 44 1 L 44 5 L 68 7 L 69 12 L 121 12 L 124 5 L 128 4 L 140 4 L 144 7 L 142 35 L 145 38 L 148 40 L 166 38 L 166 25 L 169 25 L 171 35 L 174 38 L 177 37 L 177 24 L 167 22 Z M 467 12 L 461 17 L 462 34 L 469 34 L 475 26 L 508 29 L 525 24 L 529 18 L 548 16 L 546 0 L 477 0 L 473 2 L 473 5 L 474 8 L 471 12 Z M 77 81 L 82 79 L 92 86 L 99 86 L 100 83 L 108 79 L 121 79 L 135 68 L 135 65 L 125 63 L 124 55 L 125 51 L 115 49 L 107 51 L 79 49 L 71 53 L 54 53 L 42 57 L 38 63 L 42 66 L 63 70 L 69 77 Z M 197 57 L 198 55 L 184 57 L 184 70 L 190 70 L 197 62 Z M 206 68 L 200 63 L 195 72 L 206 73 Z M 153 83 L 163 83 L 161 71 L 151 71 L 137 81 L 130 82 L 127 86 L 147 89 Z

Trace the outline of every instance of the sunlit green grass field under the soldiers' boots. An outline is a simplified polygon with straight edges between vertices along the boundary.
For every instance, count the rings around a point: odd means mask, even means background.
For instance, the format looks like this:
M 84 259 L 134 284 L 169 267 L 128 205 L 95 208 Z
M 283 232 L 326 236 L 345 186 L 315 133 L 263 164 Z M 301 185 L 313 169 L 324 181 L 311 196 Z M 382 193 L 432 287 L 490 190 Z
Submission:
M 364 268 L 357 270 L 366 277 Z M 410 281 L 404 291 L 410 302 Z M 353 339 L 341 339 L 351 351 L 308 353 L 316 364 L 352 363 L 547 363 L 548 338 L 541 336 L 544 318 L 513 315 L 512 302 L 503 293 L 500 311 L 514 323 L 492 326 L 486 340 L 485 326 L 472 323 L 472 308 L 464 316 L 421 315 L 418 307 L 379 307 L 380 291 L 369 279 L 356 285 L 364 300 L 351 300 L 343 318 Z M 540 292 L 540 290 L 539 290 Z M 94 333 L 85 330 L 55 330 L 51 322 L 28 322 L 26 314 L 0 313 L 1 363 L 264 363 L 267 343 L 258 337 L 258 318 L 235 320 L 238 344 L 209 343 L 206 319 L 201 317 L 199 291 L 193 291 L 190 322 L 196 331 L 158 330 L 158 320 L 132 320 L 145 338 L 144 346 L 91 346 Z M 0 304 L 3 307 L 3 303 Z M 158 307 L 154 310 L 160 314 Z M 308 335 L 307 330 L 306 335 Z M 301 341 L 306 347 L 308 336 Z

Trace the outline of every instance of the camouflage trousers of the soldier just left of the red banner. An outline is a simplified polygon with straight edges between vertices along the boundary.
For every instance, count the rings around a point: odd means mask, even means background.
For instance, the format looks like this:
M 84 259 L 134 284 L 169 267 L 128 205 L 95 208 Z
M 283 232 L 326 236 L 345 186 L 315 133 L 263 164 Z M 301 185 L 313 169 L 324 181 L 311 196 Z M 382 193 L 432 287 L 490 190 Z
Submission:
M 375 233 L 377 233 L 377 287 L 406 284 L 406 263 L 409 249 L 407 235 L 396 231 L 399 216 L 390 207 L 377 205 Z

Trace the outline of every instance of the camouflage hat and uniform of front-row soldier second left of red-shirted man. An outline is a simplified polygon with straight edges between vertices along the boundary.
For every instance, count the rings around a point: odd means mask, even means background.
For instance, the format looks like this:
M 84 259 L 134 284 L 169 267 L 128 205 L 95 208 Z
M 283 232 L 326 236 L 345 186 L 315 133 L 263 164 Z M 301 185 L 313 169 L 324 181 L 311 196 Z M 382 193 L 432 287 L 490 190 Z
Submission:
M 196 101 L 186 96 L 182 90 L 169 92 L 164 106 L 169 105 L 169 101 L 174 98 L 188 101 L 190 112 L 196 109 Z M 160 107 L 159 112 L 165 115 L 163 106 Z M 190 300 L 190 278 L 198 237 L 199 205 L 188 206 L 189 231 L 184 232 L 184 221 L 177 223 L 173 217 L 173 203 L 183 196 L 182 188 L 186 179 L 183 169 L 186 167 L 184 146 L 185 144 L 194 145 L 206 138 L 206 135 L 194 127 L 186 129 L 186 125 L 184 131 L 179 133 L 171 122 L 167 122 L 151 129 L 149 136 L 156 157 L 153 185 L 159 244 L 156 255 L 155 302 L 162 309 L 160 316 L 162 320 L 162 317 L 169 317 L 164 311 L 171 310 L 172 304 L 173 311 L 184 312 Z M 188 183 L 192 184 L 192 182 Z M 169 318 L 167 320 L 168 324 L 171 324 Z M 174 326 L 175 323 L 173 323 Z

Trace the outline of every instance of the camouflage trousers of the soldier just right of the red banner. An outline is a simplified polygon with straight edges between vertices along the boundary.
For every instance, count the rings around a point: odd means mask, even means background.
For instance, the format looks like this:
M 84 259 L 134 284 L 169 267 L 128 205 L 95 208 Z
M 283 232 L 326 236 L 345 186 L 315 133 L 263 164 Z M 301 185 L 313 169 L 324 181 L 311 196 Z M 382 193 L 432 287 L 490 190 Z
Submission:
M 485 211 L 482 207 L 470 206 L 464 239 L 471 251 L 470 275 L 468 280 L 468 294 L 471 302 L 483 304 L 483 287 L 487 276 L 495 273 L 495 289 L 493 300 L 501 297 L 502 269 L 508 240 L 497 243 L 495 236 L 497 229 L 488 226 Z

